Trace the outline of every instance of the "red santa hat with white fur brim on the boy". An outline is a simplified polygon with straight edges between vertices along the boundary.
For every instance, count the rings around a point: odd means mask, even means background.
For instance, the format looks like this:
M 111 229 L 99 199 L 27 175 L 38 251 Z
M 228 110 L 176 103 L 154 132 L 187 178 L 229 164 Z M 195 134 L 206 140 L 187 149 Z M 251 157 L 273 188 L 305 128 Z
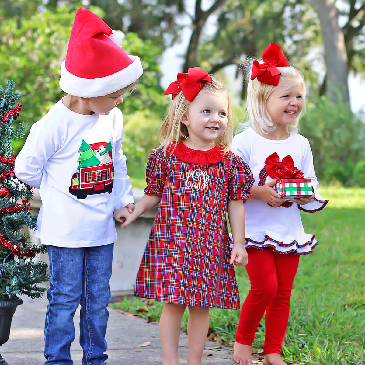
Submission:
M 120 48 L 123 36 L 90 10 L 77 9 L 59 87 L 74 96 L 94 97 L 138 80 L 143 72 L 141 61 Z

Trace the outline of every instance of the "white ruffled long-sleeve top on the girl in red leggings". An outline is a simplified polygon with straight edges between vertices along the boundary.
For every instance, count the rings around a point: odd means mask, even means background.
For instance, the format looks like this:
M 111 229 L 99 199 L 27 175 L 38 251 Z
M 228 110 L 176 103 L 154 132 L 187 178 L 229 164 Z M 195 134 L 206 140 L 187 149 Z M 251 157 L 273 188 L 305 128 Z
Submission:
M 300 210 L 319 211 L 327 204 L 317 192 L 318 180 L 314 172 L 313 156 L 308 140 L 297 133 L 287 139 L 274 141 L 256 133 L 252 128 L 237 134 L 233 138 L 231 150 L 242 157 L 254 175 L 254 185 L 264 185 L 273 179 L 263 172 L 265 160 L 276 152 L 280 161 L 291 155 L 294 166 L 311 179 L 314 200 L 306 205 L 292 203 L 290 207 L 271 207 L 262 200 L 247 199 L 246 247 L 264 249 L 271 247 L 275 252 L 284 254 L 308 254 L 317 245 L 314 234 L 304 232 Z

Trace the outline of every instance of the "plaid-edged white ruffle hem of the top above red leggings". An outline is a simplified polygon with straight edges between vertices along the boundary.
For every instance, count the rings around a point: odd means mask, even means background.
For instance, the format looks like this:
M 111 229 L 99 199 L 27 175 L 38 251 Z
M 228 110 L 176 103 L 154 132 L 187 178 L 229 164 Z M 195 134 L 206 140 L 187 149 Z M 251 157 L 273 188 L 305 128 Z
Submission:
M 314 239 L 314 234 L 312 234 L 312 238 L 307 241 L 306 243 L 300 245 L 296 240 L 292 241 L 291 243 L 284 243 L 281 241 L 277 241 L 273 238 L 270 238 L 267 234 L 265 234 L 265 239 L 263 241 L 254 241 L 253 239 L 246 238 L 246 248 L 254 248 L 258 250 L 265 250 L 265 249 L 273 249 L 274 253 L 278 253 L 281 255 L 308 255 L 313 253 L 314 247 L 318 245 L 318 242 Z M 296 247 L 289 249 L 296 245 Z M 277 250 L 277 247 L 288 247 L 288 250 L 280 251 Z M 299 248 L 307 247 L 307 251 L 298 252 Z

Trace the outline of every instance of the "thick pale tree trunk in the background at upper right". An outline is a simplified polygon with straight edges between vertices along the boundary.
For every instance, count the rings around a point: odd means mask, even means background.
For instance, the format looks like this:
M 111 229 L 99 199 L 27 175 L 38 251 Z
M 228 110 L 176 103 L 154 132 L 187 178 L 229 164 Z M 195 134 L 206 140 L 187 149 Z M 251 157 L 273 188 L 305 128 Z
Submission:
M 308 0 L 318 14 L 324 44 L 324 61 L 327 66 L 326 91 L 336 100 L 338 93 L 349 102 L 347 86 L 347 53 L 342 29 L 338 26 L 338 9 L 335 0 Z

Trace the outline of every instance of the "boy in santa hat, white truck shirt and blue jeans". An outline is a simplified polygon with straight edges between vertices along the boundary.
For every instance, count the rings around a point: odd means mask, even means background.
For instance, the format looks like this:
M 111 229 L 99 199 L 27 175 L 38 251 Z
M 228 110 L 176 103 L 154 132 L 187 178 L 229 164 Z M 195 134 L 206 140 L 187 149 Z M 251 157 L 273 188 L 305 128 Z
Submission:
M 107 364 L 113 211 L 134 210 L 116 106 L 143 72 L 120 40 L 91 11 L 77 10 L 59 81 L 67 95 L 31 127 L 15 161 L 16 176 L 39 188 L 42 198 L 34 235 L 47 245 L 50 262 L 46 365 L 73 364 L 78 304 L 82 364 Z

